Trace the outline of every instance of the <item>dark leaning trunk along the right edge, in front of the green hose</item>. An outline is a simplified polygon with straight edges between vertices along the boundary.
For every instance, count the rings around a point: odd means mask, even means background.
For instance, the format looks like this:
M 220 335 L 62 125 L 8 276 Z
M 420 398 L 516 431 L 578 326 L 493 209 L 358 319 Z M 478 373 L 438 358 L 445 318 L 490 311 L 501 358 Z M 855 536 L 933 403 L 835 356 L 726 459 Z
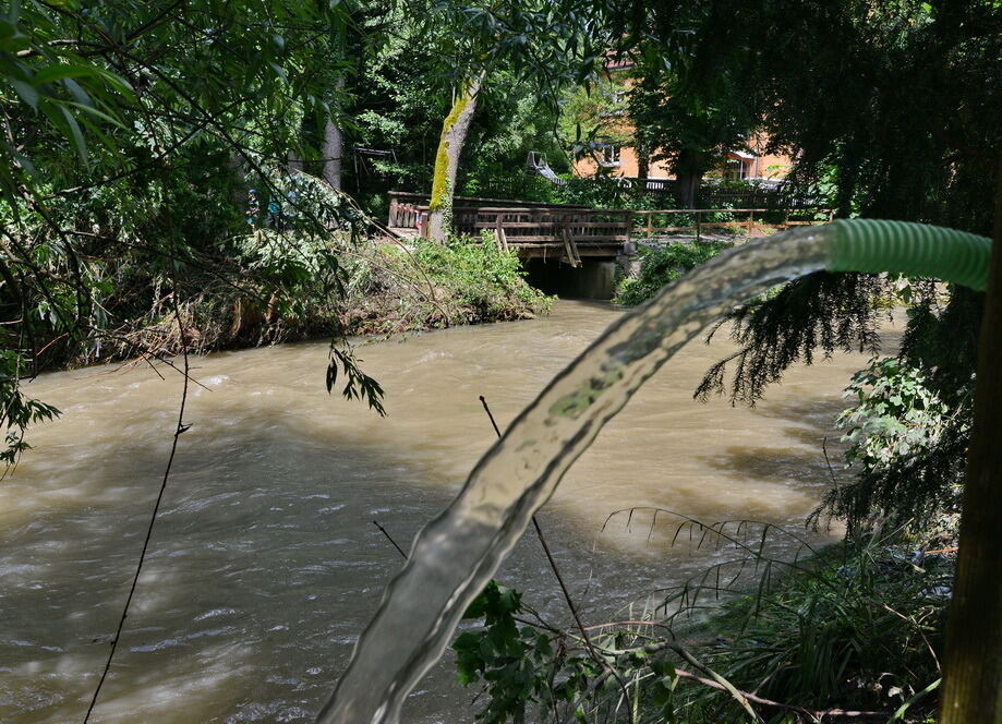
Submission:
M 1002 722 L 1002 162 L 975 393 L 956 579 L 943 659 L 940 724 Z

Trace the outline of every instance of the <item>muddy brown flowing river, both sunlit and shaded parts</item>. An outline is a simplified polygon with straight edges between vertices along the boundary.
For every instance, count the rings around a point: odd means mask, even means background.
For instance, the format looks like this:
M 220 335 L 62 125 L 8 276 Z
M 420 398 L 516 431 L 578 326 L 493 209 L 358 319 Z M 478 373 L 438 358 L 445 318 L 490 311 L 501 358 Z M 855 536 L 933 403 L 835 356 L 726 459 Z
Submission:
M 92 721 L 313 721 L 401 563 L 373 520 L 407 550 L 494 441 L 479 396 L 504 427 L 619 313 L 560 301 L 531 322 L 361 346 L 363 367 L 386 389 L 386 419 L 326 394 L 324 343 L 193 359 L 201 385 L 189 397 L 191 429 Z M 723 555 L 672 545 L 677 520 L 667 514 L 624 512 L 604 526 L 614 511 L 654 506 L 802 533 L 838 474 L 822 441 L 831 451 L 841 390 L 866 358 L 794 370 L 756 409 L 693 401 L 703 372 L 729 351 L 723 336 L 690 343 L 540 514 L 588 624 L 614 620 Z M 169 369 L 142 365 L 51 374 L 27 387 L 63 414 L 29 431 L 34 449 L 0 483 L 0 721 L 83 721 L 180 390 Z M 566 623 L 534 533 L 499 579 Z M 448 659 L 411 695 L 403 721 L 472 721 L 475 691 L 452 684 Z

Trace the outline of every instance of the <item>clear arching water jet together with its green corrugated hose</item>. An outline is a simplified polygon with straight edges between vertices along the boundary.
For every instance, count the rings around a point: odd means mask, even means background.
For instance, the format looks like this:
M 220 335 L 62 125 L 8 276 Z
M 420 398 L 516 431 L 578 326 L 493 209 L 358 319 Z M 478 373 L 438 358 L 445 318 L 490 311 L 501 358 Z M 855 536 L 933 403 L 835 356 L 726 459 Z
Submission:
M 823 268 L 932 276 L 942 254 L 928 244 L 943 234 L 927 229 L 840 221 L 778 234 L 722 254 L 624 314 L 526 408 L 480 460 L 456 499 L 421 531 L 317 721 L 398 721 L 405 697 L 445 651 L 462 613 L 532 514 L 602 426 L 708 324 L 736 303 Z M 953 234 L 959 250 L 952 255 L 951 274 L 976 286 L 981 267 L 987 270 L 991 242 L 941 231 Z M 889 244 L 881 239 L 902 234 L 917 241 L 892 249 L 892 258 L 882 255 Z M 921 254 L 915 254 L 916 245 Z

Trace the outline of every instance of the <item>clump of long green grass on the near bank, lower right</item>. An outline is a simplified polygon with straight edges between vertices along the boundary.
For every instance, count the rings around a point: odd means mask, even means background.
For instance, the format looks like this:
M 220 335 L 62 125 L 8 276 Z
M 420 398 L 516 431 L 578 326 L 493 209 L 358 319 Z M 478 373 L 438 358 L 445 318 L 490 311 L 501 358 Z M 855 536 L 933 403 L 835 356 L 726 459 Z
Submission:
M 725 605 L 712 625 L 731 637 L 705 661 L 774 701 L 893 711 L 939 675 L 952 578 L 943 556 L 872 540 L 836 546 L 806 572 Z M 714 698 L 710 711 L 733 708 Z

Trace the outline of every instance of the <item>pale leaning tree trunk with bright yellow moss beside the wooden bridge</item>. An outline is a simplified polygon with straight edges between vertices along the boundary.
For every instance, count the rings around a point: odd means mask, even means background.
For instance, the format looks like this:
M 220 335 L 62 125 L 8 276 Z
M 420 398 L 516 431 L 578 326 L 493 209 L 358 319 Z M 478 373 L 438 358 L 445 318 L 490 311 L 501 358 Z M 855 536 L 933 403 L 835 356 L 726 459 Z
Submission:
M 476 96 L 482 83 L 483 76 L 479 75 L 460 89 L 456 102 L 452 104 L 452 110 L 442 124 L 427 219 L 427 236 L 437 241 L 445 240 L 451 226 L 452 195 L 456 190 L 459 156 L 467 140 L 467 131 L 470 130 L 473 111 L 476 110 Z

